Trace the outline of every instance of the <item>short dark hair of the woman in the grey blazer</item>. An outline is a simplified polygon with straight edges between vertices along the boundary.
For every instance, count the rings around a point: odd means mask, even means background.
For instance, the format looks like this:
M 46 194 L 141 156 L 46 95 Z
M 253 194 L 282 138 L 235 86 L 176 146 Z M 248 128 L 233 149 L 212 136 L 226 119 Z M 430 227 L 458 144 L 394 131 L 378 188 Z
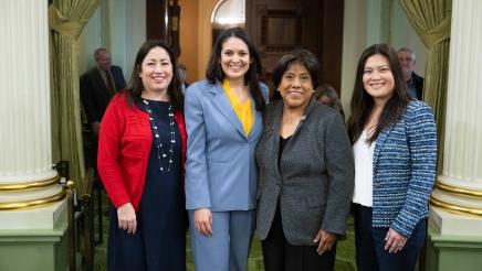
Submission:
M 310 51 L 305 48 L 298 48 L 292 51 L 287 55 L 280 58 L 272 73 L 272 79 L 276 87 L 280 86 L 283 74 L 290 68 L 292 64 L 302 64 L 306 67 L 312 77 L 313 88 L 319 85 L 319 62 L 318 58 Z

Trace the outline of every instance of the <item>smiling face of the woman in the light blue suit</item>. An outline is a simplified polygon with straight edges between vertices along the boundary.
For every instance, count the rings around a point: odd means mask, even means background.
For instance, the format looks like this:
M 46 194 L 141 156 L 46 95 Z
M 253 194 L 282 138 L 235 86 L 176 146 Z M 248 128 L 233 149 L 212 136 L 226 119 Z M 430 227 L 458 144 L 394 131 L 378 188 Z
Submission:
M 228 79 L 244 78 L 251 62 L 250 51 L 242 40 L 231 36 L 222 44 L 220 64 Z

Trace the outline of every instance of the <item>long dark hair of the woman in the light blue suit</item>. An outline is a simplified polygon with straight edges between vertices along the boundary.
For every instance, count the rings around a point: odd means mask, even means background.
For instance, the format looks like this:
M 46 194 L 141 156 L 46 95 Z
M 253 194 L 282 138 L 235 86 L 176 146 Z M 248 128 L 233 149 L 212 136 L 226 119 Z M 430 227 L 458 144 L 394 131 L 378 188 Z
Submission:
M 258 54 L 256 48 L 254 47 L 251 37 L 248 35 L 247 31 L 241 28 L 231 28 L 223 30 L 218 39 L 216 40 L 214 47 L 212 48 L 211 56 L 209 57 L 208 68 L 206 69 L 206 78 L 209 83 L 216 84 L 216 82 L 222 82 L 226 77 L 224 72 L 221 67 L 221 51 L 222 44 L 229 37 L 238 37 L 248 45 L 248 50 L 250 52 L 250 58 L 252 63 L 250 64 L 250 68 L 244 75 L 244 85 L 248 85 L 251 91 L 251 96 L 254 99 L 256 110 L 262 111 L 264 108 L 264 99 L 261 94 L 261 89 L 259 84 L 259 77 L 261 75 L 262 66 L 261 59 Z

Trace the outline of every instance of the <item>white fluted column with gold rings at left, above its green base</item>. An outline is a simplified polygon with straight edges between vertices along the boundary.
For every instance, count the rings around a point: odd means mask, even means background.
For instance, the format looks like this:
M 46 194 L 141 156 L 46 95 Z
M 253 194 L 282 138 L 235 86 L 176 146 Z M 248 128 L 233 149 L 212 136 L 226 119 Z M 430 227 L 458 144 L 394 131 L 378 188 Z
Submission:
M 52 229 L 65 193 L 52 169 L 48 2 L 3 0 L 0 36 L 0 229 Z

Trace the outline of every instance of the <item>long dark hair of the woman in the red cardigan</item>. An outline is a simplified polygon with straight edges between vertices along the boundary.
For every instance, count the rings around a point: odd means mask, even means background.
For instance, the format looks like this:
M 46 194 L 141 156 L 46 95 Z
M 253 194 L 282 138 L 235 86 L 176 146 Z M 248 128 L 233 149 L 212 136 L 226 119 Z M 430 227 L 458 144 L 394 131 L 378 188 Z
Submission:
M 181 91 L 179 72 L 177 69 L 176 55 L 174 54 L 170 46 L 166 42 L 160 40 L 146 41 L 140 46 L 139 51 L 137 51 L 136 61 L 134 62 L 134 68 L 133 73 L 130 74 L 129 84 L 127 86 L 127 89 L 125 90 L 127 93 L 127 105 L 132 106 L 133 101 L 135 104 L 138 104 L 140 101 L 140 95 L 144 90 L 144 85 L 143 80 L 139 77 L 139 73 L 144 58 L 154 47 L 161 47 L 166 50 L 167 54 L 169 55 L 170 63 L 172 65 L 172 79 L 167 87 L 167 94 L 169 95 L 170 104 L 172 105 L 174 110 L 182 110 L 184 97 Z

